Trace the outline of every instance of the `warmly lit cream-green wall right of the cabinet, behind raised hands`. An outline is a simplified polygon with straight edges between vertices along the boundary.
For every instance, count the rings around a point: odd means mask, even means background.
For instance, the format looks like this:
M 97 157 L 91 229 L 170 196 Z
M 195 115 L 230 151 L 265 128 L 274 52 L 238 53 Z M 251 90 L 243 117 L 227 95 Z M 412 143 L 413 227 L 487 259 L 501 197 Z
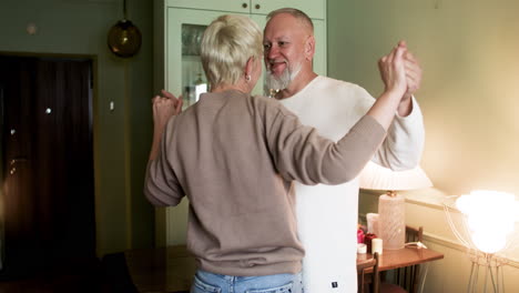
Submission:
M 519 194 L 519 2 L 328 0 L 328 74 L 381 90 L 377 60 L 404 39 L 424 69 L 421 166 L 447 194 Z

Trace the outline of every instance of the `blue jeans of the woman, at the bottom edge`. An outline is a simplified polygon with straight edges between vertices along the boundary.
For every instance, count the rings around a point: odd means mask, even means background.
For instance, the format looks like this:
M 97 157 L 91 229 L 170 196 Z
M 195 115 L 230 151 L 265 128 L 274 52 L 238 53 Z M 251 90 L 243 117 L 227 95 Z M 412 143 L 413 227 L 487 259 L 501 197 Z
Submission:
M 220 275 L 199 270 L 191 293 L 304 293 L 302 274 Z

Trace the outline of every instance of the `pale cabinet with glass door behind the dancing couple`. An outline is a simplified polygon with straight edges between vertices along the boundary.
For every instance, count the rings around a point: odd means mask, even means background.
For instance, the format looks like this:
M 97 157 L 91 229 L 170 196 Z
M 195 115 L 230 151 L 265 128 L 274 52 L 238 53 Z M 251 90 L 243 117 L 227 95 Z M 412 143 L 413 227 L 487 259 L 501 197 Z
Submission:
M 294 7 L 314 21 L 316 53 L 314 70 L 326 74 L 325 0 L 155 0 L 154 2 L 154 90 L 183 94 L 184 107 L 196 102 L 199 79 L 205 82 L 200 61 L 200 40 L 204 29 L 217 17 L 238 13 L 251 17 L 263 29 L 272 10 Z M 265 68 L 264 68 L 265 72 Z M 253 90 L 263 94 L 263 78 Z M 155 234 L 160 246 L 185 243 L 187 205 L 184 199 L 175 208 L 156 209 Z

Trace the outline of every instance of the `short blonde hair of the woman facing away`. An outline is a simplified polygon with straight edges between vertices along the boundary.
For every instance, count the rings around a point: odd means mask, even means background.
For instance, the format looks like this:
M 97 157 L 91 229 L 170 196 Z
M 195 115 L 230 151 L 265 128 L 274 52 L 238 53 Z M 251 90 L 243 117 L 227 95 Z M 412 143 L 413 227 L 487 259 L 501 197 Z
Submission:
M 247 17 L 222 16 L 202 38 L 202 65 L 211 87 L 235 84 L 243 77 L 247 60 L 262 55 L 262 31 Z

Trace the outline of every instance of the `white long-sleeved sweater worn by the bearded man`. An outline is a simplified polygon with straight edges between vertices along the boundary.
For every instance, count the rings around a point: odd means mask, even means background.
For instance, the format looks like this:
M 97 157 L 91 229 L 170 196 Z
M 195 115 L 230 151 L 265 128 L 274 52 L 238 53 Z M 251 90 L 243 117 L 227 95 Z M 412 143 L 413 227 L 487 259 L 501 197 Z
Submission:
M 279 102 L 298 115 L 303 124 L 337 141 L 375 99 L 356 84 L 317 77 Z M 393 170 L 411 169 L 419 163 L 424 140 L 421 112 L 413 99 L 413 112 L 405 118 L 396 115 L 372 161 Z M 305 292 L 356 292 L 358 189 L 358 178 L 339 185 L 309 186 L 295 182 L 298 236 L 306 251 Z

